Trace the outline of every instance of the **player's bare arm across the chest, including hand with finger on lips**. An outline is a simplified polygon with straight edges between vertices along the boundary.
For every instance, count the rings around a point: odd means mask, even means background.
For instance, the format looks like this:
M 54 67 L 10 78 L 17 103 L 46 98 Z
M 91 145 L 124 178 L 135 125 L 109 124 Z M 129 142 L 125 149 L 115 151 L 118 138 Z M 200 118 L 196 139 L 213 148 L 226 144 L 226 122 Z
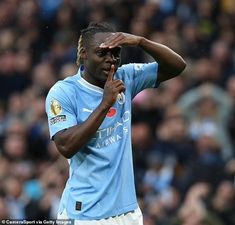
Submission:
M 125 91 L 123 82 L 121 80 L 113 80 L 113 75 L 114 66 L 111 67 L 109 72 L 104 87 L 103 99 L 88 119 L 82 124 L 59 131 L 54 136 L 56 147 L 64 157 L 71 158 L 93 137 L 105 119 L 110 107 L 115 103 L 118 93 Z

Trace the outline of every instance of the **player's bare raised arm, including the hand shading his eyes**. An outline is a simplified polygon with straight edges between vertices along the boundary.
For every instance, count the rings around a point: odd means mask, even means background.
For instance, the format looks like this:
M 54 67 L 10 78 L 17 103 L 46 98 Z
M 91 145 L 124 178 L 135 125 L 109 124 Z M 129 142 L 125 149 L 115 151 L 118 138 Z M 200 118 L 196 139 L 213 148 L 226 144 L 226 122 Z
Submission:
M 159 65 L 157 82 L 163 82 L 179 75 L 186 66 L 182 57 L 167 46 L 132 34 L 113 33 L 100 47 L 114 48 L 117 46 L 139 46 L 150 54 Z

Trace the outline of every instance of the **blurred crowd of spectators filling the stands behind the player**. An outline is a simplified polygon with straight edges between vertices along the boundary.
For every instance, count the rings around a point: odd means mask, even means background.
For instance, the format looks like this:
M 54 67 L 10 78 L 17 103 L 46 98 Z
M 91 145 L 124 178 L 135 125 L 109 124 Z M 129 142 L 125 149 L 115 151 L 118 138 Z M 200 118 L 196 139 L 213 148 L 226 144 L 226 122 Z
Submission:
M 234 0 L 1 0 L 0 218 L 56 218 L 67 161 L 49 140 L 45 96 L 76 74 L 90 21 L 165 44 L 187 69 L 133 100 L 145 225 L 235 224 Z M 125 48 L 122 64 L 149 62 Z

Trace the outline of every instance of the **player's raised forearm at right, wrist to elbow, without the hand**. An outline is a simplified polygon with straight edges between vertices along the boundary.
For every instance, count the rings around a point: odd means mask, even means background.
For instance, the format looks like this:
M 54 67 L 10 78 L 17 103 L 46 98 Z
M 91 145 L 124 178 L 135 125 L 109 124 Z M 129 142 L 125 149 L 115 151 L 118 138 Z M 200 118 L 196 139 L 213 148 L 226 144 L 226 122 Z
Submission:
M 165 45 L 158 44 L 146 38 L 140 38 L 139 47 L 150 54 L 158 63 L 159 82 L 179 75 L 186 66 L 183 58 Z

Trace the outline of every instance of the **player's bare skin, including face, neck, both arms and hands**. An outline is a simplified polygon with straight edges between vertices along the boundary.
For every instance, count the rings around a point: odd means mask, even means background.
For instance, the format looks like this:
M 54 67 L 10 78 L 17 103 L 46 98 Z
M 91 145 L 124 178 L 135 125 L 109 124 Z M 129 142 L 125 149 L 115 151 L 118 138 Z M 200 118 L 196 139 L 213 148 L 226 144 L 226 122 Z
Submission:
M 113 79 L 120 64 L 120 47 L 139 46 L 159 64 L 157 82 L 179 75 L 185 68 L 184 60 L 168 47 L 146 38 L 127 33 L 97 33 L 88 47 L 82 49 L 83 78 L 104 89 L 103 99 L 88 119 L 76 126 L 58 132 L 54 141 L 59 152 L 71 158 L 94 136 L 117 95 L 125 91 L 121 80 Z M 156 71 L 157 75 L 157 71 Z

